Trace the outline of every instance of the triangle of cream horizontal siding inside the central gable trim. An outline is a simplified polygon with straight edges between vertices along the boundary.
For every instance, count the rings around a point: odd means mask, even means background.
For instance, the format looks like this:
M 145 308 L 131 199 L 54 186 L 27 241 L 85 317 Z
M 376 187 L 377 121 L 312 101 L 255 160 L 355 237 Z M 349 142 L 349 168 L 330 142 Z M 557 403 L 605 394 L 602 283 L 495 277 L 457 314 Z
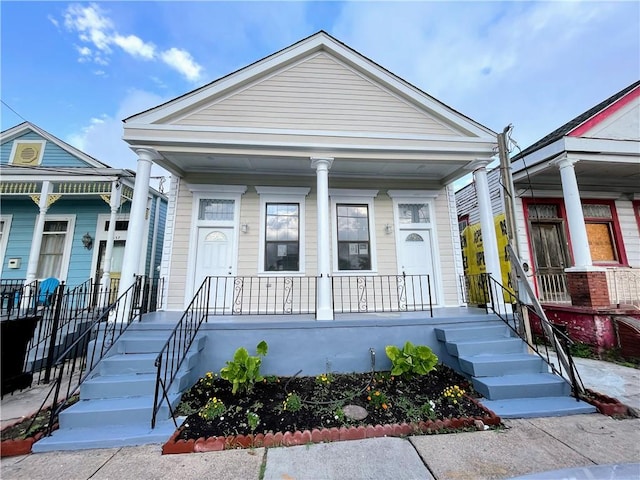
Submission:
M 261 78 L 174 123 L 243 129 L 460 134 L 326 53 Z

